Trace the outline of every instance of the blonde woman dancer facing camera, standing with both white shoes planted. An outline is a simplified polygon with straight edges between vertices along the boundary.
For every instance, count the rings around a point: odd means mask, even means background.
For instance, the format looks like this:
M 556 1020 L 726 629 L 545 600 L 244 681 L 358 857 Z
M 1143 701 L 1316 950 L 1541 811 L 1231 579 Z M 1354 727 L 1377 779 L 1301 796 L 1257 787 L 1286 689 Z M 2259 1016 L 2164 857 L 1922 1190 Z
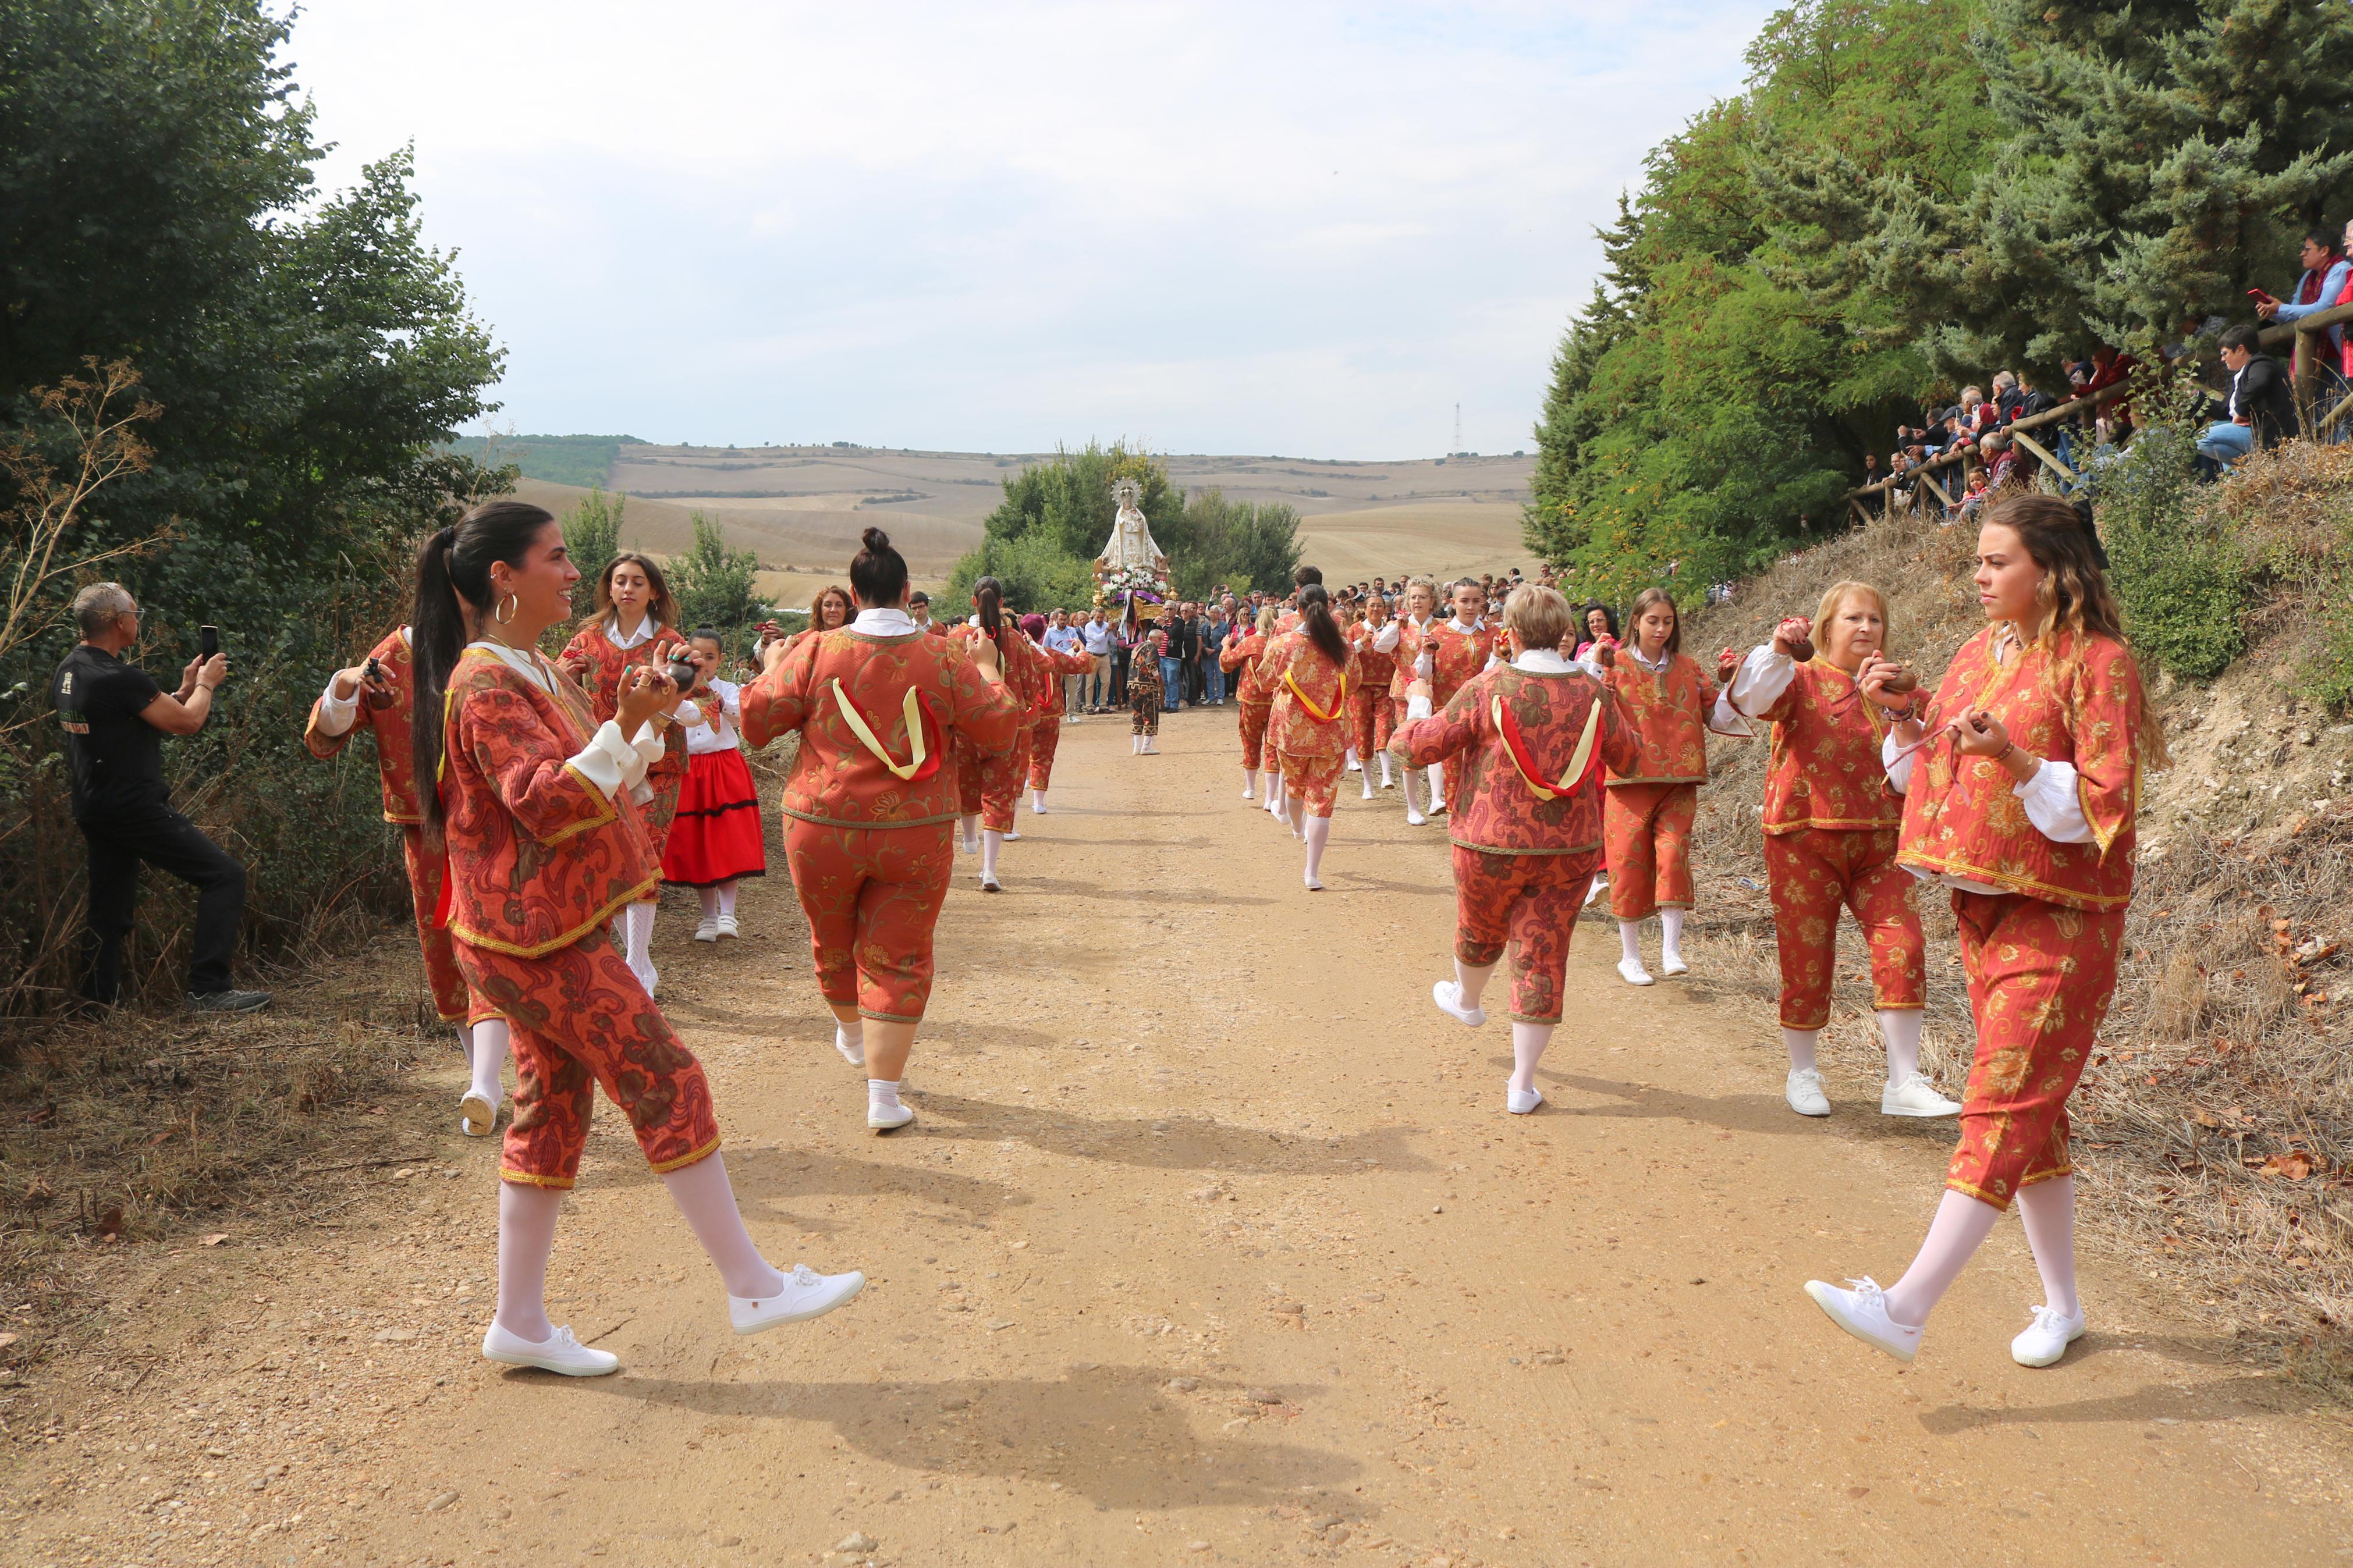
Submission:
M 1802 642 L 1819 654 L 1798 663 Z M 1871 1004 L 1887 1041 L 1882 1117 L 1951 1117 L 1920 1072 L 1927 950 L 1913 877 L 1897 865 L 1904 797 L 1887 788 L 1887 719 L 1857 675 L 1887 654 L 1887 597 L 1871 583 L 1831 583 L 1814 618 L 1784 621 L 1732 677 L 1732 705 L 1772 724 L 1765 771 L 1765 886 L 1781 952 L 1784 1095 L 1800 1117 L 1828 1117 L 1814 1039 L 1831 1020 L 1838 907 L 1871 950 Z

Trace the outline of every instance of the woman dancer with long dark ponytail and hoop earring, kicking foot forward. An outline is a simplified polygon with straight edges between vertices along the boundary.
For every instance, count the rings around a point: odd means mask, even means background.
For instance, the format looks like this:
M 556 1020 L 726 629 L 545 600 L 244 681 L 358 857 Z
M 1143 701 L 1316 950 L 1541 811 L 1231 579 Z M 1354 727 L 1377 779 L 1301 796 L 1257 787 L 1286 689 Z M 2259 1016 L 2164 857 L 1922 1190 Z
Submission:
M 614 717 L 539 656 L 579 569 L 555 517 L 478 505 L 416 557 L 412 762 L 449 851 L 447 926 L 466 983 L 513 1027 L 515 1119 L 499 1159 L 499 1309 L 482 1354 L 572 1378 L 621 1359 L 548 1324 L 555 1215 L 579 1173 L 598 1084 L 727 1284 L 736 1333 L 819 1316 L 864 1274 L 779 1274 L 744 1232 L 711 1084 L 605 926 L 654 886 L 640 813 L 668 677 L 631 670 Z

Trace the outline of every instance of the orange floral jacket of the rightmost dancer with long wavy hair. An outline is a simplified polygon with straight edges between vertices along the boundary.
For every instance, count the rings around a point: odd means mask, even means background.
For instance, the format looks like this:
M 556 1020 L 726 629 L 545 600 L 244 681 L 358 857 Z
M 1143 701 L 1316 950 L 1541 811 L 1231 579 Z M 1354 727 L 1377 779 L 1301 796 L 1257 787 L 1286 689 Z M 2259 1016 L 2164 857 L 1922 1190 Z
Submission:
M 1988 625 L 1962 644 L 1937 682 L 1929 719 L 1946 724 L 1984 708 L 2021 750 L 2073 764 L 2092 844 L 2045 839 L 2002 764 L 1962 757 L 1951 736 L 1932 729 L 1904 795 L 1897 860 L 2068 910 L 2122 910 L 2132 903 L 2141 792 L 2141 672 L 2113 637 L 2073 632 L 2012 649 L 2000 663 L 1993 644 L 2002 635 Z

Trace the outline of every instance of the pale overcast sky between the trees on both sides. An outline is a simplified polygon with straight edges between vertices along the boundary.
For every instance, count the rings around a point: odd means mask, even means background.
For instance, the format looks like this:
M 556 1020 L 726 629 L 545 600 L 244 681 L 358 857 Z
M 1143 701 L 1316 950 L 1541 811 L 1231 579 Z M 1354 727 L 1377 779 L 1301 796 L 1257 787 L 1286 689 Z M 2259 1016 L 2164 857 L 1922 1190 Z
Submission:
M 1593 226 L 1769 5 L 313 0 L 525 433 L 1532 447 Z

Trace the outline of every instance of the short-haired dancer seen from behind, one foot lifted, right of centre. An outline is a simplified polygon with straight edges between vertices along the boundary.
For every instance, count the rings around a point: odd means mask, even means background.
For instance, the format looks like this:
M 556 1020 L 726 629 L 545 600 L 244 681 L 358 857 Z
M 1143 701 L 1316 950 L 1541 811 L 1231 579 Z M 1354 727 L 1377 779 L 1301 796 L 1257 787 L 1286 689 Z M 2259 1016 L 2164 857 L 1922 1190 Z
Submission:
M 1454 844 L 1454 978 L 1431 987 L 1438 1011 L 1473 1030 L 1480 992 L 1511 945 L 1511 1081 L 1504 1110 L 1544 1103 L 1537 1063 L 1560 1025 L 1569 933 L 1602 846 L 1602 762 L 1631 766 L 1633 731 L 1605 682 L 1560 656 L 1569 602 L 1522 583 L 1504 602 L 1508 663 L 1464 682 L 1442 712 L 1417 717 L 1388 748 L 1424 769 L 1461 757 L 1447 818 Z M 1417 679 L 1426 696 L 1428 682 Z

